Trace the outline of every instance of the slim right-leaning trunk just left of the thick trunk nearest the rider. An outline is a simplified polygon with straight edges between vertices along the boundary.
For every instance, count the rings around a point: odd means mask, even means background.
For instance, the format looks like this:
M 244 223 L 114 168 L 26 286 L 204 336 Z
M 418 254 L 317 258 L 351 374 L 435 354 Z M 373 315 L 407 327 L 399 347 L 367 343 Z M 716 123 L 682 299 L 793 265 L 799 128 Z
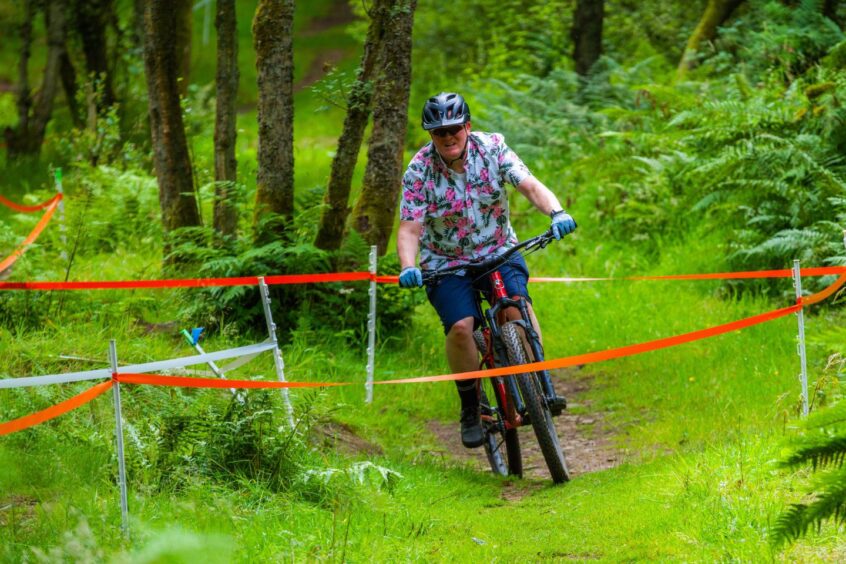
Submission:
M 326 208 L 320 217 L 315 246 L 324 250 L 336 250 L 341 246 L 344 227 L 350 214 L 349 196 L 352 176 L 358 161 L 358 152 L 364 138 L 364 129 L 370 117 L 372 101 L 372 78 L 376 62 L 382 49 L 385 35 L 385 20 L 396 0 L 376 0 L 370 11 L 370 26 L 364 42 L 364 53 L 358 76 L 347 100 L 347 116 L 344 129 L 338 139 L 338 150 L 332 159 L 332 171 L 326 187 L 324 203 Z

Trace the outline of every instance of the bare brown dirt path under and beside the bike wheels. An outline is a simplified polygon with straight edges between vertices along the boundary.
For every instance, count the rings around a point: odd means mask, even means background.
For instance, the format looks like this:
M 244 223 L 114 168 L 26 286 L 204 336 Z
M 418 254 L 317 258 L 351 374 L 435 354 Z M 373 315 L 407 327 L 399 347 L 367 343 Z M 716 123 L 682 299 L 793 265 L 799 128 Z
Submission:
M 571 476 L 598 472 L 613 468 L 624 460 L 624 453 L 611 444 L 613 433 L 604 425 L 602 413 L 590 409 L 590 402 L 584 399 L 584 392 L 590 388 L 591 380 L 577 370 L 553 371 L 556 391 L 567 398 L 569 408 L 555 419 L 555 426 L 564 449 L 564 457 Z M 586 414 L 573 414 L 574 407 L 587 407 Z M 443 445 L 448 456 L 463 462 L 471 462 L 481 472 L 490 467 L 482 448 L 466 449 L 461 445 L 458 422 L 431 421 L 428 428 Z M 523 473 L 527 478 L 549 480 L 543 455 L 531 428 L 520 429 L 520 445 L 523 452 Z M 507 493 L 504 497 L 510 498 Z

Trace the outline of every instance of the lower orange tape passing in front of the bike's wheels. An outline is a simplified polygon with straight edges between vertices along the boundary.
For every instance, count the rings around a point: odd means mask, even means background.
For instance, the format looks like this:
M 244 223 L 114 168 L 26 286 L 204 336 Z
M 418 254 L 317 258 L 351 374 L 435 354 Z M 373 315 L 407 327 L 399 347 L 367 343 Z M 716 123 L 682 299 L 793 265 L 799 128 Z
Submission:
M 472 372 L 463 372 L 460 374 L 442 374 L 439 376 L 421 376 L 417 378 L 402 378 L 396 380 L 380 380 L 374 382 L 375 384 L 416 384 L 423 382 L 444 382 L 450 380 L 469 380 L 472 378 L 491 378 L 494 376 L 507 376 L 511 374 L 519 374 L 523 372 L 532 372 L 535 370 L 552 370 L 555 368 L 564 368 L 567 366 L 576 366 L 580 364 L 591 364 L 594 362 L 601 362 L 604 360 L 612 360 L 626 356 L 633 356 L 650 351 L 656 351 L 692 341 L 707 339 L 708 337 L 715 337 L 732 331 L 739 331 L 746 327 L 772 321 L 780 317 L 784 317 L 791 313 L 796 313 L 802 309 L 803 306 L 818 303 L 846 285 L 846 274 L 841 275 L 833 284 L 821 292 L 817 292 L 811 296 L 799 300 L 798 303 L 784 307 L 781 309 L 768 311 L 752 317 L 746 317 L 737 321 L 724 323 L 707 329 L 700 329 L 698 331 L 691 331 L 681 335 L 674 335 L 672 337 L 665 337 L 663 339 L 655 339 L 645 343 L 638 343 L 635 345 L 627 345 L 605 351 L 598 351 L 553 360 L 545 360 L 543 362 L 533 362 L 529 364 L 522 364 L 519 366 L 506 366 L 502 368 L 494 368 L 489 370 L 475 370 Z M 126 384 L 146 384 L 152 386 L 178 386 L 188 388 L 241 388 L 241 389 L 255 389 L 255 388 L 325 388 L 349 386 L 349 382 L 266 382 L 255 380 L 220 380 L 216 378 L 189 378 L 185 376 L 161 376 L 155 374 L 114 374 L 112 380 L 97 384 L 93 388 L 74 396 L 53 407 L 47 408 L 43 411 L 27 415 L 7 423 L 0 424 L 0 435 L 7 435 L 15 431 L 21 431 L 28 427 L 32 427 L 39 423 L 43 423 L 54 417 L 58 417 L 68 411 L 76 409 L 77 407 L 91 401 L 97 396 L 106 392 L 114 381 L 123 382 Z

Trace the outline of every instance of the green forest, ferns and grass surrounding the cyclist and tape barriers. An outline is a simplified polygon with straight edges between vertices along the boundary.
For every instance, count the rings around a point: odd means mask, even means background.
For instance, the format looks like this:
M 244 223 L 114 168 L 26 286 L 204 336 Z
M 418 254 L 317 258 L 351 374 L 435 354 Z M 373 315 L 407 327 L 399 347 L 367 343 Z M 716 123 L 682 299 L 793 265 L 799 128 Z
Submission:
M 46 200 L 61 168 L 66 196 L 65 229 L 2 277 L 363 270 L 371 244 L 396 274 L 398 179 L 442 90 L 579 223 L 534 275 L 846 265 L 841 4 L 3 3 L 0 194 Z M 523 237 L 548 227 L 519 197 L 512 210 Z M 0 254 L 37 220 L 0 209 Z M 794 299 L 786 280 L 532 292 L 548 358 Z M 360 283 L 273 287 L 288 379 L 363 382 L 367 301 Z M 423 302 L 380 287 L 376 379 L 447 371 Z M 450 383 L 379 387 L 369 405 L 363 386 L 295 393 L 294 428 L 277 393 L 125 387 L 131 537 L 100 399 L 0 439 L 0 558 L 840 561 L 841 309 L 806 315 L 808 421 L 792 317 L 560 371 L 563 486 L 542 467 L 491 476 L 456 448 Z M 258 291 L 4 290 L 0 374 L 101 367 L 109 339 L 121 362 L 184 356 L 179 329 L 196 326 L 207 350 L 264 339 Z M 233 377 L 273 374 L 257 359 Z M 82 389 L 4 390 L 0 420 Z

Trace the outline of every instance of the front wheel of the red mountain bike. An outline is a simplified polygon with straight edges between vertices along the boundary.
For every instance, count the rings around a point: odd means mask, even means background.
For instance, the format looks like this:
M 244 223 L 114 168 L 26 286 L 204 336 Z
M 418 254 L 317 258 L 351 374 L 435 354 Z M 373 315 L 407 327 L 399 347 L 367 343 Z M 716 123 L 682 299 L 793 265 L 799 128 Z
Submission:
M 531 352 L 531 347 L 529 347 L 523 327 L 514 322 L 509 322 L 504 324 L 501 330 L 508 359 L 512 364 L 534 362 L 534 355 Z M 552 481 L 556 484 L 566 482 L 570 479 L 570 471 L 567 469 L 564 452 L 561 450 L 558 433 L 555 431 L 552 414 L 544 399 L 538 377 L 534 372 L 517 374 L 515 377 L 520 393 L 523 395 L 523 403 L 526 404 L 535 437 L 552 476 Z

